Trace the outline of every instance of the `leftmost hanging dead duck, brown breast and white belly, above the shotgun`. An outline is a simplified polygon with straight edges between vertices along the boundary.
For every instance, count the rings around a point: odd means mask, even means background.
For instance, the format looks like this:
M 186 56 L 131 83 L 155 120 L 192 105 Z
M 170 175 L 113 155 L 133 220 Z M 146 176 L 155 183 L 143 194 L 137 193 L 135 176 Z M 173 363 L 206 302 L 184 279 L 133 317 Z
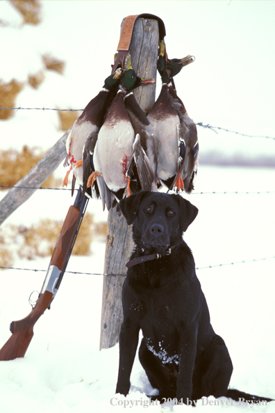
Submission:
M 106 115 L 106 110 L 110 104 L 110 97 L 112 98 L 112 96 L 110 96 L 112 95 L 111 91 L 115 90 L 116 92 L 121 73 L 122 69 L 119 68 L 115 74 L 108 76 L 104 81 L 103 89 L 88 103 L 83 113 L 74 122 L 72 130 L 67 137 L 66 149 L 68 155 L 65 160 L 65 165 L 67 165 L 69 161 L 71 167 L 67 171 L 63 186 L 67 186 L 69 172 L 73 170 L 74 179 L 72 191 L 75 180 L 77 180 L 80 185 L 83 185 L 83 182 L 85 183 L 85 179 L 83 180 L 83 147 L 86 140 L 90 143 L 90 151 L 92 150 L 91 145 L 95 145 L 97 133 L 99 132 L 104 115 Z M 84 157 L 86 155 L 84 152 Z

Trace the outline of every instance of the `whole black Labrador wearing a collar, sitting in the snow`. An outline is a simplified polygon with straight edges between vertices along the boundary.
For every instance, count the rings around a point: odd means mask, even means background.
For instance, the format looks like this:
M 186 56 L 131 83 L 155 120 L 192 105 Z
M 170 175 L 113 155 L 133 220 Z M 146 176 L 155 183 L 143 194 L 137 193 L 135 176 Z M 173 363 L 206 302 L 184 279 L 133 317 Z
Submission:
M 182 234 L 198 209 L 180 195 L 141 191 L 119 202 L 133 223 L 135 250 L 123 286 L 116 393 L 128 394 L 138 347 L 154 398 L 189 403 L 203 396 L 271 400 L 228 390 L 233 364 L 210 324 L 194 258 Z

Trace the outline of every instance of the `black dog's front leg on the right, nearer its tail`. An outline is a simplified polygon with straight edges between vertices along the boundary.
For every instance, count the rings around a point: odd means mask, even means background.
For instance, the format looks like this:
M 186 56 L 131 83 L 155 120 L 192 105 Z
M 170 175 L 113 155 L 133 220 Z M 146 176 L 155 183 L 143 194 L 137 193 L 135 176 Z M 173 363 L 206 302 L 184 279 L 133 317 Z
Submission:
M 176 398 L 188 404 L 192 400 L 192 375 L 197 353 L 197 323 L 181 330 L 181 350 L 176 382 Z

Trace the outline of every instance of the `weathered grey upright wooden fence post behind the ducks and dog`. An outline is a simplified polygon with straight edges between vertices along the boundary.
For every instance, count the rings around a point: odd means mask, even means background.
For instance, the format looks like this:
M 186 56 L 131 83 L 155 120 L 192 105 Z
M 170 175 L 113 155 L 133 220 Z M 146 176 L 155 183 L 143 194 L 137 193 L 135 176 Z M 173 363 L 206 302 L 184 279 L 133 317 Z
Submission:
M 122 21 L 123 25 L 124 21 Z M 138 76 L 156 79 L 158 58 L 158 22 L 155 19 L 137 19 L 131 41 L 131 64 Z M 155 102 L 156 84 L 134 90 L 140 108 L 149 112 Z M 100 348 L 115 346 L 123 320 L 122 285 L 126 262 L 133 250 L 131 227 L 118 206 L 108 214 L 108 229 L 103 280 Z

